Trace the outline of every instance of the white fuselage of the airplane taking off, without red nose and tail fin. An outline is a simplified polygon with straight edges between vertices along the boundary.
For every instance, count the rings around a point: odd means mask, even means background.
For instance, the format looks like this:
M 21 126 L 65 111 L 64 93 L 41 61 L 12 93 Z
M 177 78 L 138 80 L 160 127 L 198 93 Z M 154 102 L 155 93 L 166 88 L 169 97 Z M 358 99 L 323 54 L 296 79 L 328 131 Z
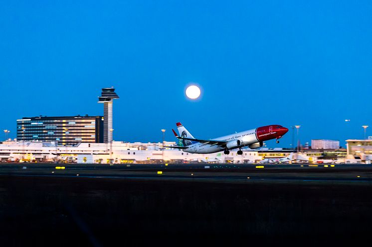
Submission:
M 253 143 L 259 142 L 256 136 L 257 129 L 251 129 L 239 133 L 234 133 L 228 136 L 222 136 L 218 138 L 214 138 L 212 140 L 221 140 L 221 141 L 233 141 L 233 140 L 240 140 L 241 145 L 240 147 L 245 147 L 251 145 Z M 188 146 L 187 149 L 184 149 L 184 152 L 193 153 L 193 154 L 211 154 L 225 150 L 224 148 L 213 145 L 213 144 L 203 144 L 203 143 L 194 143 Z

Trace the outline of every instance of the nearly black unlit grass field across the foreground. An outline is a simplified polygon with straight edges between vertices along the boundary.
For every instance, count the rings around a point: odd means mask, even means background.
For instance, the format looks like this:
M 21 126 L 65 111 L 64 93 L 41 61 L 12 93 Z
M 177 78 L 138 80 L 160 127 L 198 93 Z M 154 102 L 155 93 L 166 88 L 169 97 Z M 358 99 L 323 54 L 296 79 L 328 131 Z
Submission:
M 371 195 L 353 181 L 0 175 L 0 246 L 357 246 Z

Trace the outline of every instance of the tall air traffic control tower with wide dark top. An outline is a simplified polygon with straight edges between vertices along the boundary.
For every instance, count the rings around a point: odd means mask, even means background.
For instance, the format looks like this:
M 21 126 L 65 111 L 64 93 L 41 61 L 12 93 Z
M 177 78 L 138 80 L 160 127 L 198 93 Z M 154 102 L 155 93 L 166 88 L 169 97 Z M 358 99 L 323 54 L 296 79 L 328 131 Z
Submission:
M 101 96 L 98 96 L 98 103 L 103 103 L 103 142 L 112 142 L 112 101 L 119 98 L 114 87 L 102 88 Z

